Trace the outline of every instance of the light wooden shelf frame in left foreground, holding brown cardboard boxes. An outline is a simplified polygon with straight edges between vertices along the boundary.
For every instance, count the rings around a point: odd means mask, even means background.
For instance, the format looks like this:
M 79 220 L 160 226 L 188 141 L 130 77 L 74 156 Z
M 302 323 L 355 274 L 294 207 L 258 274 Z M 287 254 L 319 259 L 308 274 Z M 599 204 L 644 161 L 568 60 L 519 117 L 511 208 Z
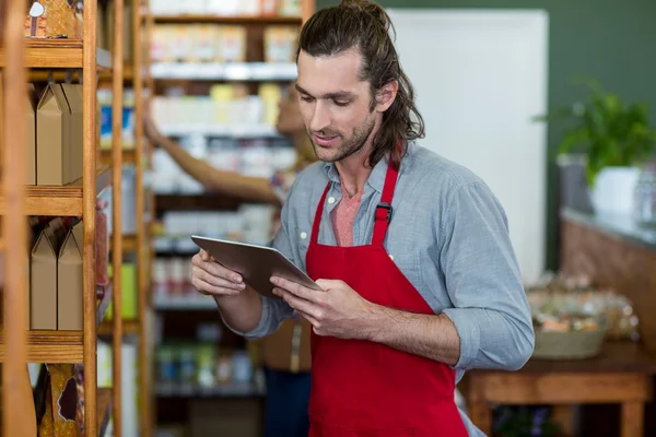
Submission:
M 98 389 L 96 382 L 97 329 L 109 300 L 115 317 L 120 321 L 121 290 L 120 273 L 105 288 L 102 299 L 96 298 L 96 197 L 113 186 L 113 213 L 121 211 L 121 135 L 115 129 L 113 139 L 114 158 L 110 167 L 96 166 L 96 81 L 98 73 L 112 75 L 114 90 L 122 92 L 122 0 L 115 0 L 121 12 L 114 24 L 115 51 L 113 55 L 96 47 L 97 0 L 84 1 L 82 39 L 28 39 L 23 37 L 25 2 L 3 1 L 0 16 L 4 29 L 0 47 L 2 69 L 2 197 L 0 209 L 3 222 L 4 245 L 4 320 L 0 336 L 0 357 L 3 361 L 3 435 L 36 435 L 35 409 L 32 393 L 27 390 L 26 363 L 82 363 L 84 365 L 84 427 L 87 436 L 102 436 L 109 416 L 113 415 L 115 436 L 120 436 L 120 381 L 121 356 L 114 355 L 114 388 Z M 25 68 L 32 69 L 31 75 Z M 25 187 L 25 95 L 27 79 L 44 80 L 61 75 L 62 70 L 79 70 L 82 78 L 92 78 L 82 83 L 83 103 L 83 170 L 79 181 L 63 187 Z M 39 79 L 42 75 L 42 79 Z M 65 75 L 67 75 L 65 73 Z M 113 107 L 115 128 L 120 128 L 122 107 L 120 98 Z M 27 284 L 27 225 L 25 215 L 79 216 L 83 221 L 83 330 L 82 331 L 33 331 L 25 320 L 25 294 Z M 120 220 L 114 221 L 114 247 L 121 251 Z M 118 262 L 118 264 L 117 264 Z M 120 272 L 120 259 L 114 258 L 115 271 Z M 115 349 L 120 351 L 121 323 L 115 322 Z M 23 378 L 20 385 L 10 379 Z M 112 405 L 112 406 L 110 406 Z M 34 424 L 34 425 L 33 425 Z

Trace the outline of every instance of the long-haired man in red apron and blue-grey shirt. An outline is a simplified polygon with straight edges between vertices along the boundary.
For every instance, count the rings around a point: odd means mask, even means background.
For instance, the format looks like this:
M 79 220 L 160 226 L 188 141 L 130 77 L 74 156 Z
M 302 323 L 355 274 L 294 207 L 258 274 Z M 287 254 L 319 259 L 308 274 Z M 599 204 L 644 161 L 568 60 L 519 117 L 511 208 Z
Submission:
M 301 33 L 296 87 L 321 163 L 296 179 L 273 246 L 324 291 L 272 277 L 280 298 L 260 297 L 202 251 L 192 281 L 247 338 L 294 310 L 313 324 L 311 436 L 478 436 L 455 385 L 520 368 L 530 311 L 499 201 L 414 141 L 389 28 L 376 4 L 348 1 Z

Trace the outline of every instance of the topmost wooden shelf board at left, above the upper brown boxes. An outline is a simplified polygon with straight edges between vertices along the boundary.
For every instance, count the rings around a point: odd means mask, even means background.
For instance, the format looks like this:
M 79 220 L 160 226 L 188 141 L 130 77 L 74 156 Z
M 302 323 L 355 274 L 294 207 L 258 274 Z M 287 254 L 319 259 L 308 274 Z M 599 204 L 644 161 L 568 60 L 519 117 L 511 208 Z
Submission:
M 25 67 L 40 69 L 81 69 L 84 67 L 82 39 L 27 39 Z M 112 55 L 102 48 L 96 49 L 96 63 L 99 69 L 112 69 Z M 0 47 L 0 67 L 4 64 L 4 48 Z

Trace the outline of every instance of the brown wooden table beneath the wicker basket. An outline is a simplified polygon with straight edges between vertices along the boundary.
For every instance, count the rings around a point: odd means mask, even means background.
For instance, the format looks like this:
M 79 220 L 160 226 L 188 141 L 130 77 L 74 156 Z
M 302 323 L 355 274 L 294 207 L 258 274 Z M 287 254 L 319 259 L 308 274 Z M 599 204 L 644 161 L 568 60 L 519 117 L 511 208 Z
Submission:
M 470 370 L 464 394 L 471 421 L 492 435 L 492 405 L 553 405 L 553 418 L 573 434 L 572 405 L 621 404 L 621 437 L 643 437 L 656 356 L 633 343 L 607 343 L 595 358 L 530 359 L 518 371 Z

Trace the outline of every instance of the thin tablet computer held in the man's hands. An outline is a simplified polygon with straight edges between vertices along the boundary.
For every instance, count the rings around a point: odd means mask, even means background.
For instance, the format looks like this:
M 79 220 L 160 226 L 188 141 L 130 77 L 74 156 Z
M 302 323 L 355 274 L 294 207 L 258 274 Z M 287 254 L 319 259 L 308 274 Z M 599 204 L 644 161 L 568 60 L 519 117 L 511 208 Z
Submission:
M 192 235 L 191 239 L 221 265 L 239 273 L 244 282 L 262 296 L 278 297 L 273 294 L 271 276 L 284 277 L 308 288 L 321 291 L 321 287 L 311 280 L 307 274 L 272 247 L 197 235 Z

